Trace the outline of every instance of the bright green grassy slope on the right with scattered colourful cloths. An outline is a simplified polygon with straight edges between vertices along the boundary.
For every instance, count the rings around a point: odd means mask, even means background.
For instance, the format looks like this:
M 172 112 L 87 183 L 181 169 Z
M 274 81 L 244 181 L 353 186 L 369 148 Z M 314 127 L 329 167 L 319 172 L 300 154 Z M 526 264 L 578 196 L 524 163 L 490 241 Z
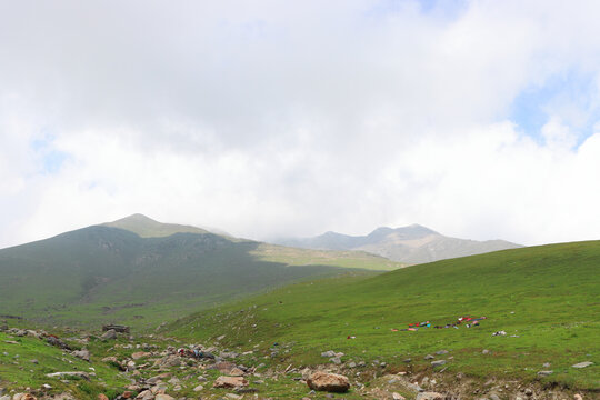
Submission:
M 443 324 L 462 314 L 488 320 L 473 329 L 391 331 L 423 320 Z M 450 372 L 536 379 L 537 371 L 551 369 L 543 380 L 598 390 L 600 242 L 593 241 L 293 284 L 197 313 L 168 331 L 201 340 L 227 334 L 229 346 L 242 349 L 294 342 L 288 357 L 302 363 L 324 362 L 320 352 L 333 349 L 347 353 L 346 360 L 404 366 L 401 360 L 412 358 L 430 368 L 423 356 L 447 349 L 442 358 L 453 357 Z M 508 336 L 492 337 L 499 330 Z M 570 367 L 581 361 L 594 366 Z

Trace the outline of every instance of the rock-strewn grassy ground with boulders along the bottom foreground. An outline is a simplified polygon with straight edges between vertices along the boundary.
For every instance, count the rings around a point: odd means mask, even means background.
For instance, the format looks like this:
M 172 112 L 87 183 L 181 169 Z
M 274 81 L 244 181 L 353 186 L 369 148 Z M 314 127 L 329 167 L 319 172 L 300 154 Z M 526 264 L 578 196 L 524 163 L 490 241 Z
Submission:
M 490 378 L 478 381 L 462 373 L 449 373 L 444 364 L 451 352 L 441 349 L 427 354 L 430 369 L 417 369 L 410 359 L 401 367 L 382 362 L 353 361 L 343 353 L 327 350 L 323 363 L 293 366 L 278 361 L 280 353 L 293 343 L 273 343 L 269 352 L 230 351 L 219 338 L 207 343 L 181 343 L 174 338 L 131 336 L 119 328 L 93 336 L 78 333 L 59 338 L 42 330 L 4 327 L 10 349 L 0 363 L 0 400 L 37 399 L 392 399 L 392 400 L 537 400 L 592 399 L 598 393 L 580 393 L 566 388 L 544 388 L 540 382 L 504 381 Z M 73 332 L 71 332 L 73 333 Z M 59 349 L 70 370 L 46 371 L 46 382 L 32 387 L 30 380 L 7 381 L 3 371 L 13 368 L 27 372 L 38 360 L 20 360 L 19 338 L 32 338 L 44 347 Z M 87 370 L 76 367 L 73 359 L 89 363 Z M 3 359 L 2 359 L 3 360 Z M 78 361 L 80 362 L 80 361 Z M 550 366 L 548 366 L 550 367 Z M 573 366 L 586 368 L 588 366 Z M 122 384 L 100 378 L 97 369 L 112 371 Z M 31 370 L 33 372 L 33 370 Z M 543 372 L 543 371 L 541 371 Z M 551 371 L 547 371 L 551 373 Z M 29 386 L 28 386 L 29 384 Z M 82 394 L 83 388 L 86 392 Z

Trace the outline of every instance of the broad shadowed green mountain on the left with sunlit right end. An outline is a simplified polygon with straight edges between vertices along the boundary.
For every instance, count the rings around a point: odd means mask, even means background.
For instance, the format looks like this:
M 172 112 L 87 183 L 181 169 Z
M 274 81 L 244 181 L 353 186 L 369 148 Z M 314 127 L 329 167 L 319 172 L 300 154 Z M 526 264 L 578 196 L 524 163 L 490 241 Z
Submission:
M 0 314 L 153 324 L 294 280 L 399 267 L 366 252 L 290 249 L 134 214 L 0 250 Z

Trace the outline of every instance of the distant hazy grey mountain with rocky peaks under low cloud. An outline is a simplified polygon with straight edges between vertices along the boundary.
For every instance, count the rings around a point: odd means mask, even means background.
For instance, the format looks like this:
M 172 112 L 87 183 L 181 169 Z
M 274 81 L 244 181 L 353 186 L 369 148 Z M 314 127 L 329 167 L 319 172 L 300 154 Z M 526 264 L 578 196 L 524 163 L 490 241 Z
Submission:
M 276 242 L 304 249 L 362 250 L 407 264 L 522 247 L 504 240 L 450 238 L 419 224 L 396 229 L 382 227 L 367 236 L 327 232 L 314 238 L 281 239 Z

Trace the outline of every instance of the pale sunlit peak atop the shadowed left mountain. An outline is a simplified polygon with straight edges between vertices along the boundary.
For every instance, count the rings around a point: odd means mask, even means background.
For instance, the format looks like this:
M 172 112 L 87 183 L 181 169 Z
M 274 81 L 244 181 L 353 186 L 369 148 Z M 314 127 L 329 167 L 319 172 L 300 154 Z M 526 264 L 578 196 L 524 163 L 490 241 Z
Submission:
M 162 238 L 174 233 L 209 233 L 204 229 L 177 223 L 162 223 L 141 213 L 134 213 L 117 221 L 102 223 L 104 227 L 119 228 L 141 238 Z

